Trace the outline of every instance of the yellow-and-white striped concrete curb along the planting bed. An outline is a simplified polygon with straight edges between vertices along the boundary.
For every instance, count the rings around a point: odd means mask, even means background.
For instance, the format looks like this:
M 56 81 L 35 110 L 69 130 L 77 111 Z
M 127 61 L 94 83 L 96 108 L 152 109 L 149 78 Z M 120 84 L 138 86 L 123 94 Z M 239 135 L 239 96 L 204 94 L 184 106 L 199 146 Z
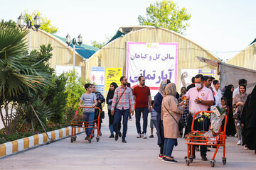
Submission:
M 75 128 L 75 131 L 76 133 L 79 133 L 84 132 L 85 129 Z M 47 134 L 54 141 L 60 140 L 61 138 L 69 137 L 71 135 L 71 127 L 53 130 L 47 132 Z M 26 149 L 36 147 L 37 145 L 45 145 L 47 142 L 49 142 L 49 139 L 46 133 L 41 133 L 30 137 L 24 137 L 23 139 L 6 142 L 0 145 L 0 158 L 5 157 L 9 154 L 22 152 Z

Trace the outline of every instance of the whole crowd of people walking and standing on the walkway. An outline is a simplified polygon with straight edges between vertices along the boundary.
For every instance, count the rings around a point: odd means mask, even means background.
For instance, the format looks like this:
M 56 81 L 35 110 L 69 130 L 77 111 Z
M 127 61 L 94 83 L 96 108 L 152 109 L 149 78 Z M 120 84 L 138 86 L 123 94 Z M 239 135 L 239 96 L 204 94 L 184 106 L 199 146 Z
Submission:
M 151 92 L 145 85 L 145 78 L 140 76 L 138 81 L 139 85 L 134 89 L 127 86 L 126 77 L 120 78 L 121 86 L 117 86 L 115 82 L 110 84 L 106 98 L 110 138 L 118 140 L 122 137 L 122 142 L 127 142 L 127 122 L 129 119 L 132 120 L 130 116 L 134 115 L 135 111 L 137 138 L 146 139 L 148 115 L 151 113 L 149 137 L 154 137 L 155 127 L 157 145 L 160 147 L 159 159 L 164 162 L 176 162 L 172 151 L 174 146 L 178 145 L 177 138 L 181 137 L 181 134 L 184 137 L 191 132 L 193 116 L 198 111 L 213 111 L 213 108 L 219 107 L 225 108 L 225 114 L 228 116 L 226 135 L 238 137 L 237 145 L 243 145 L 245 149 L 254 149 L 256 154 L 256 86 L 252 93 L 247 95 L 245 79 L 239 80 L 239 86 L 236 89 L 232 84 L 220 89 L 220 81 L 198 74 L 192 78 L 191 85 L 181 88 L 181 94 L 176 91 L 176 84 L 171 83 L 169 79 L 164 79 L 154 100 L 151 100 Z M 87 92 L 80 98 L 80 107 L 83 103 L 83 106 L 97 106 L 102 110 L 104 96 L 93 84 L 85 84 L 85 89 Z M 94 108 L 84 108 L 83 115 L 85 121 L 92 121 L 97 118 L 98 111 Z M 202 116 L 198 114 L 196 119 Z M 143 119 L 142 128 L 141 118 Z M 102 118 L 99 122 L 100 128 L 101 123 Z M 224 123 L 225 120 L 221 125 L 222 130 Z M 210 119 L 195 120 L 193 130 L 208 130 L 209 126 Z M 90 129 L 86 129 L 85 140 L 90 136 L 90 132 L 92 132 Z M 101 132 L 100 135 L 102 135 Z M 193 158 L 196 158 L 196 150 L 200 150 L 203 161 L 208 160 L 206 154 L 209 149 L 206 146 L 193 147 Z

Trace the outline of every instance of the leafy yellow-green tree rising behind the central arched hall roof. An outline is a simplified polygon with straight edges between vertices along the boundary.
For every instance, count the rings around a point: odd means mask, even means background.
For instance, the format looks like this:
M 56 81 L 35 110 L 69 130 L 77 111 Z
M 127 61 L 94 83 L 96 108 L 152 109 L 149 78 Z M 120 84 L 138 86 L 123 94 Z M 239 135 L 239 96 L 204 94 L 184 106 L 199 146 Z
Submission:
M 186 8 L 179 9 L 174 1 L 164 0 L 150 4 L 146 8 L 146 18 L 139 15 L 138 20 L 141 26 L 167 28 L 183 34 L 183 31 L 189 26 L 186 21 L 190 18 L 191 13 L 188 13 Z

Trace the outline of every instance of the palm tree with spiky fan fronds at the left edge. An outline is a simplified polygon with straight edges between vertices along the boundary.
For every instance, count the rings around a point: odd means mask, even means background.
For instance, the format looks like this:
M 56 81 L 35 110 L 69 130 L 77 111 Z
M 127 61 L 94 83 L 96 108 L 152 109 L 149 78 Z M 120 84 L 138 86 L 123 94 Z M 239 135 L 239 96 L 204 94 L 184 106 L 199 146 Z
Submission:
M 0 28 L 0 115 L 6 134 L 14 132 L 23 103 L 33 100 L 31 91 L 46 86 L 50 79 L 49 74 L 41 72 L 40 62 L 31 60 L 34 55 L 26 55 L 27 34 L 28 30 L 20 32 L 11 26 Z

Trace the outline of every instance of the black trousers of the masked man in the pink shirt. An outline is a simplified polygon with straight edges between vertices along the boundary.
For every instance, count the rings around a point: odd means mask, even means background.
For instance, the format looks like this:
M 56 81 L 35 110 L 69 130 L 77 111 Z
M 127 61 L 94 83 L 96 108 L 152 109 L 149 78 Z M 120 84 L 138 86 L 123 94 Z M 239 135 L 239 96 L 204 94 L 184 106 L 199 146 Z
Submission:
M 192 126 L 192 121 L 193 121 L 193 117 L 191 114 L 188 115 L 188 131 L 191 132 L 191 126 Z M 194 126 L 193 126 L 193 130 L 208 130 L 208 122 L 207 122 L 207 118 L 204 121 L 200 121 L 198 122 L 198 120 L 196 119 L 194 121 Z M 201 156 L 206 156 L 206 152 L 207 152 L 207 147 L 200 145 L 200 152 L 201 152 Z M 193 145 L 193 155 L 196 155 L 196 146 Z

